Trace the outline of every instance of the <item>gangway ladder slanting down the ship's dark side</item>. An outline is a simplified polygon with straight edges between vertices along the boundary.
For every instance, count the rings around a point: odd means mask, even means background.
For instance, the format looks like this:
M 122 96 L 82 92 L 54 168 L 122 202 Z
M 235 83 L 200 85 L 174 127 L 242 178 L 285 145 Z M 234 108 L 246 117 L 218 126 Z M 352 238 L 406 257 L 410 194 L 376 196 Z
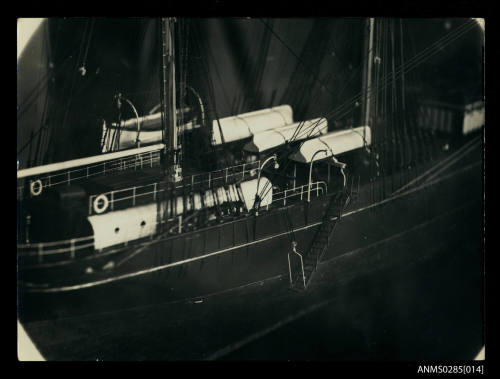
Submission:
M 316 230 L 306 254 L 300 254 L 296 249 L 296 244 L 292 244 L 292 252 L 288 254 L 288 268 L 290 287 L 293 290 L 303 291 L 307 289 L 318 262 L 328 249 L 335 226 L 341 218 L 348 199 L 349 195 L 345 191 L 332 195 L 323 222 Z

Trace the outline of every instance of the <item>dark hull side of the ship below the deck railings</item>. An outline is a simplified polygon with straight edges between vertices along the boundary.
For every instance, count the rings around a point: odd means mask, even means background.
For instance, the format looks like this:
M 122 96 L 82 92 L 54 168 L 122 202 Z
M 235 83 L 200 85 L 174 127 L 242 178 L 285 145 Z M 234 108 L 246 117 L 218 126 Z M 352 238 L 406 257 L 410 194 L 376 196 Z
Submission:
M 363 186 L 357 201 L 345 209 L 322 261 L 363 251 L 464 207 L 481 207 L 481 166 L 477 154 L 474 158 L 452 165 L 434 181 L 385 200 L 376 201 L 383 181 L 376 187 Z M 325 196 L 287 207 L 300 252 L 309 248 L 328 201 Z M 203 297 L 278 276 L 287 285 L 291 233 L 285 210 L 152 242 L 140 252 L 136 246 L 120 255 L 73 265 L 74 275 L 64 266 L 23 273 L 41 283 L 43 275 L 59 277 L 61 282 L 52 288 L 21 290 L 19 316 L 29 320 L 99 312 L 146 304 L 158 296 L 162 301 Z M 450 237 L 443 233 L 443 238 Z M 110 259 L 122 263 L 111 271 L 99 270 Z M 89 264 L 94 273 L 81 275 Z M 128 296 L 136 288 L 150 288 L 150 296 Z

